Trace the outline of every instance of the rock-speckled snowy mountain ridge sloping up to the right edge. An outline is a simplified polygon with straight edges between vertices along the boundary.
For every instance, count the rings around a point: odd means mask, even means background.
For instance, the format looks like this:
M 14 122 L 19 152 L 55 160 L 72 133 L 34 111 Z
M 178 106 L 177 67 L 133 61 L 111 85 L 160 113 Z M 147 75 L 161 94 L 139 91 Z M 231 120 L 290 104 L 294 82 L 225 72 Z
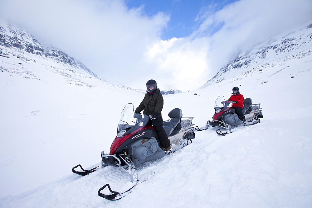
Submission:
M 269 63 L 278 59 L 289 60 L 310 54 L 312 45 L 311 28 L 312 24 L 309 24 L 298 31 L 289 32 L 284 36 L 275 36 L 251 50 L 239 53 L 235 59 L 224 65 L 219 72 L 208 80 L 206 84 L 199 87 L 199 89 L 205 88 L 212 83 L 226 80 L 227 77 L 230 77 L 228 73 L 233 73 L 234 71 L 241 76 L 245 76 L 248 73 L 255 73 L 261 70 L 259 69 L 261 66 L 269 65 Z

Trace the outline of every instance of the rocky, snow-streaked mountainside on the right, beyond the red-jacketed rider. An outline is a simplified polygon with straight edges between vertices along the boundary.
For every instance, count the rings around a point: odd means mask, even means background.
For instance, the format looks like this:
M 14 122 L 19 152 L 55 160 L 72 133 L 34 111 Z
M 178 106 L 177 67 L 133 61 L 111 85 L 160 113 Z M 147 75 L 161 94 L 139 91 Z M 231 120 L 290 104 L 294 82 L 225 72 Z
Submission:
M 309 56 L 312 53 L 311 41 L 312 24 L 287 35 L 274 37 L 252 50 L 238 54 L 235 59 L 223 66 L 213 78 L 200 88 L 222 81 L 229 82 L 229 79 L 238 81 L 246 76 L 258 78 L 255 80 L 257 82 L 266 82 L 265 77 L 273 76 L 277 63 L 280 70 L 276 73 L 286 69 L 288 61 Z M 261 75 L 257 76 L 258 74 Z

